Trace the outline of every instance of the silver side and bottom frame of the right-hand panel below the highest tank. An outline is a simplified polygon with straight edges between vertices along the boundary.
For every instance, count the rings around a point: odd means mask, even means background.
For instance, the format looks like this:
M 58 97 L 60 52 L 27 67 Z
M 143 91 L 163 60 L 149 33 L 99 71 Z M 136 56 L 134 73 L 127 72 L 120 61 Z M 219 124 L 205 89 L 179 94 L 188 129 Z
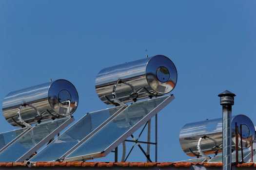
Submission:
M 122 136 L 120 136 L 115 142 L 113 142 L 110 146 L 108 146 L 104 151 L 100 152 L 100 153 L 92 153 L 92 154 L 87 154 L 87 155 L 80 155 L 80 156 L 76 156 L 76 157 L 70 157 L 70 158 L 64 158 L 62 159 L 64 162 L 70 162 L 70 161 L 84 161 L 86 159 L 92 159 L 92 158 L 98 158 L 98 157 L 104 157 L 106 156 L 108 153 L 110 153 L 111 151 L 113 151 L 113 149 L 115 149 L 116 147 L 118 147 L 118 145 L 124 141 L 126 138 L 128 138 L 129 136 L 131 136 L 135 131 L 138 130 L 138 128 L 140 126 L 142 126 L 143 124 L 145 124 L 149 119 L 151 119 L 152 117 L 154 117 L 161 109 L 163 109 L 167 104 L 169 104 L 170 102 L 172 102 L 175 99 L 174 95 L 171 94 L 169 95 L 163 102 L 161 102 L 155 109 L 153 109 L 151 112 L 149 112 L 144 118 L 142 118 L 141 120 L 139 120 L 133 127 L 131 127 L 131 129 L 129 129 L 127 132 L 125 132 Z M 130 106 L 130 105 L 129 105 Z M 128 106 L 128 107 L 129 107 Z M 126 107 L 126 108 L 128 108 Z M 118 115 L 117 115 L 118 116 Z M 113 118 L 114 119 L 114 118 Z M 103 127 L 102 127 L 103 128 Z M 85 142 L 85 141 L 84 141 Z M 82 145 L 84 142 L 82 142 L 80 145 Z M 71 152 L 72 153 L 72 152 Z M 66 155 L 68 156 L 68 155 Z M 65 157 L 66 157 L 65 156 Z

